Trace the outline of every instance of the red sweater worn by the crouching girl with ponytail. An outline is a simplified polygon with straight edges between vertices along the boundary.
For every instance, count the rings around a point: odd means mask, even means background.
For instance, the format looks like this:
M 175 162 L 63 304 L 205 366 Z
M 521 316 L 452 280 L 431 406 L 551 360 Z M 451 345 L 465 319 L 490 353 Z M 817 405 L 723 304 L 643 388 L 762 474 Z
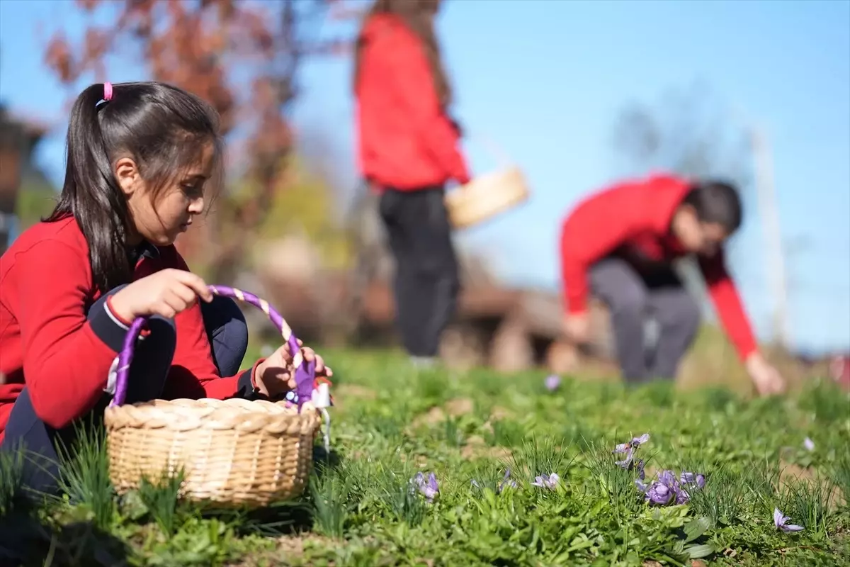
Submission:
M 139 258 L 134 279 L 160 269 L 185 269 L 173 246 Z M 122 348 L 126 321 L 108 307 L 90 314 L 99 298 L 88 245 L 73 218 L 36 224 L 0 258 L 0 441 L 21 389 L 38 417 L 62 428 L 99 400 L 112 360 Z M 195 304 L 177 315 L 177 347 L 163 397 L 223 400 L 252 389 L 252 371 L 222 378 Z M 241 392 L 246 390 L 246 392 Z

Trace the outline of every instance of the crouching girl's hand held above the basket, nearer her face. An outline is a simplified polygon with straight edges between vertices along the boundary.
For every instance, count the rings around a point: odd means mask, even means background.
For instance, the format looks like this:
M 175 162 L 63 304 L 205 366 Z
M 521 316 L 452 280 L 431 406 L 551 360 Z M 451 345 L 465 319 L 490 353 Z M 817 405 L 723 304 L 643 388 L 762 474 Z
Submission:
M 116 292 L 109 306 L 122 320 L 132 321 L 145 315 L 171 319 L 194 305 L 198 297 L 212 301 L 212 292 L 200 276 L 183 269 L 163 269 Z

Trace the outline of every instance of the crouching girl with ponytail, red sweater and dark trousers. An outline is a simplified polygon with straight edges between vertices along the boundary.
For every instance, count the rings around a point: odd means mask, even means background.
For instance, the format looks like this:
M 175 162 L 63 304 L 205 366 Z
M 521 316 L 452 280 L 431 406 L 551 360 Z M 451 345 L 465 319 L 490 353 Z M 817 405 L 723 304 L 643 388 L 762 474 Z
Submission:
M 107 82 L 77 98 L 59 203 L 0 258 L 0 450 L 24 445 L 37 456 L 31 488 L 56 490 L 57 443 L 81 417 L 102 416 L 139 316 L 150 320 L 127 403 L 288 389 L 286 345 L 238 373 L 240 309 L 213 298 L 173 246 L 204 210 L 221 149 L 216 112 L 179 88 Z M 331 375 L 311 349 L 303 354 Z

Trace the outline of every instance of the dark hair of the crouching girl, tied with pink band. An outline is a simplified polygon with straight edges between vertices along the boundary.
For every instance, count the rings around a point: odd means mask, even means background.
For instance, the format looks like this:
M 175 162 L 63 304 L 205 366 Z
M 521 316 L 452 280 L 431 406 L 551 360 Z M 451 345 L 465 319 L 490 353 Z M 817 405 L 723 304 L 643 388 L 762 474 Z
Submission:
M 212 143 L 221 154 L 218 114 L 186 91 L 161 82 L 94 84 L 77 97 L 68 124 L 65 184 L 45 222 L 73 217 L 88 242 L 95 285 L 106 292 L 131 280 L 127 234 L 133 219 L 113 166 L 129 157 L 155 201 Z

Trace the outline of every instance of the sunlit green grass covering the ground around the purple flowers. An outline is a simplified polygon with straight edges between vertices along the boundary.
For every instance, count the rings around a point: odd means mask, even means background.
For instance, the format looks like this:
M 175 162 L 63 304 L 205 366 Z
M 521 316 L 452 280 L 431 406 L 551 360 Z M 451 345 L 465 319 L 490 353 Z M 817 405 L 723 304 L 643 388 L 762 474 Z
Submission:
M 318 458 L 299 502 L 216 513 L 178 501 L 179 479 L 118 497 L 94 436 L 63 459 L 67 496 L 40 506 L 21 503 L 20 457 L 0 460 L 0 541 L 14 533 L 0 564 L 850 563 L 850 399 L 831 383 L 745 400 L 565 377 L 549 393 L 544 372 L 416 372 L 394 354 L 323 354 L 336 455 Z M 649 506 L 637 471 L 614 465 L 614 446 L 645 432 L 647 481 L 706 475 L 689 503 Z M 438 480 L 431 502 L 411 484 L 419 472 Z M 551 473 L 551 488 L 531 484 Z M 774 507 L 805 529 L 778 530 Z

